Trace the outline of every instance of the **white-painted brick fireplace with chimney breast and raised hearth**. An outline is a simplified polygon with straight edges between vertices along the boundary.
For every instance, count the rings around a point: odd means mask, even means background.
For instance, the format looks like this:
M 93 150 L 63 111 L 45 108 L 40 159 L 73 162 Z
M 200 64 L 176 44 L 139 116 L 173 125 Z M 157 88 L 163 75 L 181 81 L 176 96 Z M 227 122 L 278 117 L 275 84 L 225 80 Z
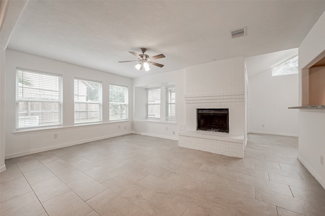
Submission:
M 244 83 L 244 57 L 186 68 L 186 124 L 185 130 L 179 132 L 178 146 L 243 158 Z M 216 109 L 228 111 L 229 131 L 197 130 L 198 110 Z

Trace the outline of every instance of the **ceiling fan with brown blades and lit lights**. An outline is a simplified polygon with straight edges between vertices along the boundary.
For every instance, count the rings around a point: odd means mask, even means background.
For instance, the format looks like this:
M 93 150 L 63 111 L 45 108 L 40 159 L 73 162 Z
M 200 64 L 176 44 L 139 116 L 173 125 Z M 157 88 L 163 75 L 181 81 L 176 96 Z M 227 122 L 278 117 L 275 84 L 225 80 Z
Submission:
M 152 65 L 158 66 L 158 67 L 163 67 L 164 66 L 164 64 L 159 64 L 159 63 L 156 63 L 156 62 L 153 62 L 152 61 L 152 60 L 158 59 L 158 58 L 165 58 L 166 56 L 164 54 L 159 54 L 159 55 L 155 55 L 155 56 L 149 57 L 147 54 L 144 54 L 147 51 L 146 48 L 141 48 L 140 50 L 141 50 L 142 54 L 137 54 L 135 52 L 128 51 L 132 55 L 136 56 L 138 58 L 138 60 L 119 61 L 119 63 L 124 63 L 124 62 L 139 62 L 135 67 L 138 70 L 141 70 L 144 67 L 144 69 L 146 71 L 150 70 L 149 64 L 152 64 Z

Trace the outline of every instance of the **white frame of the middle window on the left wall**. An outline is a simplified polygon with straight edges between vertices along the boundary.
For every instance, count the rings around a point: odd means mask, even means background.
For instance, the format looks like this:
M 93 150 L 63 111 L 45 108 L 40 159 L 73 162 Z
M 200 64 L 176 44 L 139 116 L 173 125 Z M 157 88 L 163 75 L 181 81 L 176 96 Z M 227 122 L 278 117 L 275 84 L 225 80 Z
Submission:
M 85 101 L 85 100 L 76 100 L 76 95 L 79 97 L 79 86 L 78 86 L 78 93 L 76 93 L 76 80 L 77 82 L 79 80 L 85 81 L 85 82 L 92 82 L 92 83 L 98 83 L 99 84 L 99 92 L 98 92 L 98 101 Z M 79 85 L 79 82 L 78 82 Z M 86 96 L 87 97 L 87 96 Z M 89 113 L 89 104 L 99 104 L 99 120 L 96 121 L 79 121 L 76 122 L 76 103 L 86 103 L 87 104 L 87 111 L 78 111 L 78 112 L 87 112 Z M 89 118 L 88 118 L 89 119 Z M 74 78 L 74 125 L 88 125 L 88 124 L 96 124 L 96 123 L 102 123 L 103 122 L 103 83 L 100 81 L 94 81 L 94 80 L 88 80 L 84 78 Z

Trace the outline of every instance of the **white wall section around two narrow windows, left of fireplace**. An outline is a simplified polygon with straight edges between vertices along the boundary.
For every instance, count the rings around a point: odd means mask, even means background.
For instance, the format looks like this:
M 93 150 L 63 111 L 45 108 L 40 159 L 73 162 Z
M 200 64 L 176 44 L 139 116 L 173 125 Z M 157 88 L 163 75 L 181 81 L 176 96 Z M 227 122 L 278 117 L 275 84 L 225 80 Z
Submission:
M 176 122 L 165 120 L 164 96 L 166 86 L 175 85 L 176 88 Z M 151 135 L 169 139 L 178 139 L 178 132 L 185 125 L 185 69 L 167 73 L 135 78 L 134 86 L 134 122 L 133 129 L 138 134 Z M 160 120 L 146 119 L 146 88 L 162 87 Z M 173 134 L 175 131 L 175 134 Z

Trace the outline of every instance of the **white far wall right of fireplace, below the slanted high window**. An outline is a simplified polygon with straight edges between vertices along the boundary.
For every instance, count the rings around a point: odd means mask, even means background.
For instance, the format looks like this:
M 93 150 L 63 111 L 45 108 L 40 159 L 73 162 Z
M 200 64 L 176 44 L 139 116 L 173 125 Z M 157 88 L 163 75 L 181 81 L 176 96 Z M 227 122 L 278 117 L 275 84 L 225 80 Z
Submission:
M 269 68 L 249 79 L 249 132 L 298 136 L 298 110 L 288 110 L 298 105 L 298 77 L 272 77 Z

